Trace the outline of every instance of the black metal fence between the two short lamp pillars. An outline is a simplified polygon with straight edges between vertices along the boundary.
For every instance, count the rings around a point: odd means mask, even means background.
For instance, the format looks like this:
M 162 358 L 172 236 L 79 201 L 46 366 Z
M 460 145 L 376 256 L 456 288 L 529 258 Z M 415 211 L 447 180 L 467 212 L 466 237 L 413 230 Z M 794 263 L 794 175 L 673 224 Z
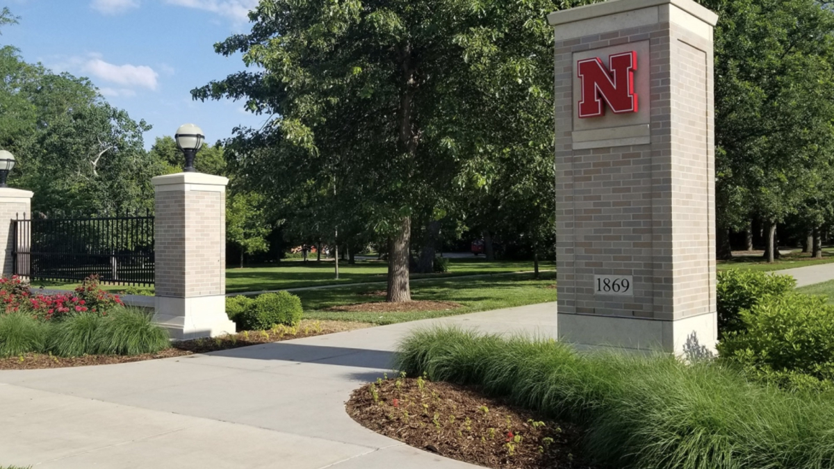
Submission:
M 153 285 L 153 215 L 13 219 L 13 269 L 29 280 Z

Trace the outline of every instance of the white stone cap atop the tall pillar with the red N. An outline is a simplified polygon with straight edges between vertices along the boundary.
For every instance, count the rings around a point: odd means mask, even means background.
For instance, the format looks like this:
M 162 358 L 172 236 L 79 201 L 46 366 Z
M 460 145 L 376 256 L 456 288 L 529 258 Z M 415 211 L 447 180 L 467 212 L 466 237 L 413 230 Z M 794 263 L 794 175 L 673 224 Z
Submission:
M 718 15 L 712 13 L 709 8 L 701 7 L 693 0 L 609 0 L 603 3 L 594 3 L 583 7 L 568 8 L 559 12 L 547 15 L 550 26 L 559 26 L 565 23 L 575 23 L 585 19 L 600 18 L 617 13 L 631 12 L 642 8 L 658 7 L 661 5 L 674 5 L 677 8 L 700 19 L 704 23 L 715 27 L 718 23 Z

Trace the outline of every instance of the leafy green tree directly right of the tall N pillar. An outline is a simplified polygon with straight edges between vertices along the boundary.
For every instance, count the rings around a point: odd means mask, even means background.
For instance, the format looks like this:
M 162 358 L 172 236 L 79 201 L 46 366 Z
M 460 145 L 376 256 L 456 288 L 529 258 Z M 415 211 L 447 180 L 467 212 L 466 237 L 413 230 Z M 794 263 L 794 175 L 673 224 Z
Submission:
M 834 13 L 815 0 L 710 0 L 716 28 L 716 199 L 719 236 L 776 224 L 818 194 L 831 165 Z M 721 250 L 721 247 L 724 249 Z M 719 243 L 727 257 L 728 244 Z M 723 255 L 721 255 L 723 251 Z

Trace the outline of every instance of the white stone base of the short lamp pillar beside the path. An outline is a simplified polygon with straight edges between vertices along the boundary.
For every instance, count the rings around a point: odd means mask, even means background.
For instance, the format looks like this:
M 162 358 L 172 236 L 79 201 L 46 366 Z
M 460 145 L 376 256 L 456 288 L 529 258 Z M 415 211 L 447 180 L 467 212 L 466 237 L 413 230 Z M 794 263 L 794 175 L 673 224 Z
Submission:
M 226 315 L 224 295 L 172 298 L 157 296 L 154 322 L 175 340 L 234 334 L 235 325 Z

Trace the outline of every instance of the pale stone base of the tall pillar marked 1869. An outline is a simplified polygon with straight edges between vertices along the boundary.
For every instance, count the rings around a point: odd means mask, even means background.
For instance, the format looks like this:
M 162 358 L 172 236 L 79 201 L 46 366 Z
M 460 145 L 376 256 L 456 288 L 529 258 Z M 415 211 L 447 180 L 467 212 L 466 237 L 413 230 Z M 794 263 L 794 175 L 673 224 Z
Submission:
M 559 337 L 565 342 L 631 350 L 662 350 L 690 359 L 716 354 L 716 320 L 716 313 L 681 320 L 563 313 L 557 317 Z

